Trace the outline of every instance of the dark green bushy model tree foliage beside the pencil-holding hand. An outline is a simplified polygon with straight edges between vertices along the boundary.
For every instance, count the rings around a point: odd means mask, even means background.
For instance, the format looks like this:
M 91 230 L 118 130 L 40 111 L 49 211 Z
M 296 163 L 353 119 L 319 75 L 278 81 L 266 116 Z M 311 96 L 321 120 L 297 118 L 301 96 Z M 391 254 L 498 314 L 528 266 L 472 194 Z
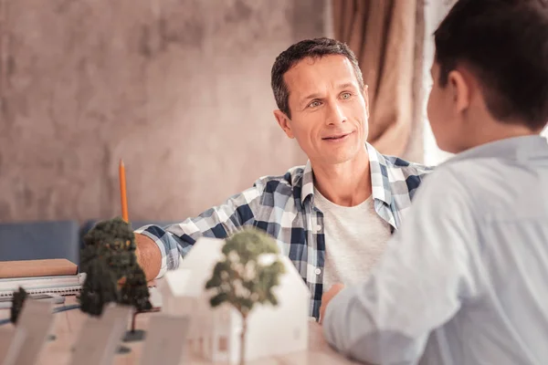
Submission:
M 152 308 L 136 248 L 131 224 L 120 217 L 96 224 L 84 236 L 80 259 L 81 271 L 86 273 L 79 297 L 82 311 L 100 316 L 110 302 L 137 310 Z

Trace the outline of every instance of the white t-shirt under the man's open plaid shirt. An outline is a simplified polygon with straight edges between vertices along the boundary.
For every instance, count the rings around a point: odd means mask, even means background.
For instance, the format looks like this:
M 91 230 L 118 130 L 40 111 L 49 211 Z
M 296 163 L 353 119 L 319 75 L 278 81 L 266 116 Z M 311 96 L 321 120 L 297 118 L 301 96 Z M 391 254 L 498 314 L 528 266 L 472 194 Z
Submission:
M 314 188 L 314 204 L 323 213 L 323 291 L 336 283 L 364 281 L 391 237 L 390 224 L 374 211 L 373 195 L 358 205 L 341 206 Z

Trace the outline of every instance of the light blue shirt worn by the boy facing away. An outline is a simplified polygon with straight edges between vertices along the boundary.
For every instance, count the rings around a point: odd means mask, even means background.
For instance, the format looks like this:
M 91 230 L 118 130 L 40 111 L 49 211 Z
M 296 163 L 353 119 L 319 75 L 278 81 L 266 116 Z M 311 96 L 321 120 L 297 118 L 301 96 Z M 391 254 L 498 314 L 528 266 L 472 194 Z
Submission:
M 548 143 L 495 141 L 427 176 L 362 285 L 324 334 L 374 364 L 548 363 Z

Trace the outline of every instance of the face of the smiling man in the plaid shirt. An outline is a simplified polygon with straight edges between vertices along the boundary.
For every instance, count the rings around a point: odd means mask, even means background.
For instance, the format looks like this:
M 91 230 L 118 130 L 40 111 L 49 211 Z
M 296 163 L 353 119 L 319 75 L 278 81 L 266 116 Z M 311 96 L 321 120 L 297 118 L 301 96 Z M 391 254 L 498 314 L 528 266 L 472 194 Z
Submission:
M 352 160 L 367 139 L 368 105 L 348 58 L 304 58 L 284 75 L 290 91 L 288 119 L 275 111 L 279 125 L 295 138 L 312 162 Z

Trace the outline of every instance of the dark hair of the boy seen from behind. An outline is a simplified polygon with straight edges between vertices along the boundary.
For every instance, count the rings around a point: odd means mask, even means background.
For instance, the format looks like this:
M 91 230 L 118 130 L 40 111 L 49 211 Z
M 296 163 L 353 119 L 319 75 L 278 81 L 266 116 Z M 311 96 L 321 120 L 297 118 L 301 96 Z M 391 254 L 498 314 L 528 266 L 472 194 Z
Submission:
M 434 33 L 439 83 L 458 66 L 479 80 L 493 118 L 548 122 L 548 2 L 459 0 Z

